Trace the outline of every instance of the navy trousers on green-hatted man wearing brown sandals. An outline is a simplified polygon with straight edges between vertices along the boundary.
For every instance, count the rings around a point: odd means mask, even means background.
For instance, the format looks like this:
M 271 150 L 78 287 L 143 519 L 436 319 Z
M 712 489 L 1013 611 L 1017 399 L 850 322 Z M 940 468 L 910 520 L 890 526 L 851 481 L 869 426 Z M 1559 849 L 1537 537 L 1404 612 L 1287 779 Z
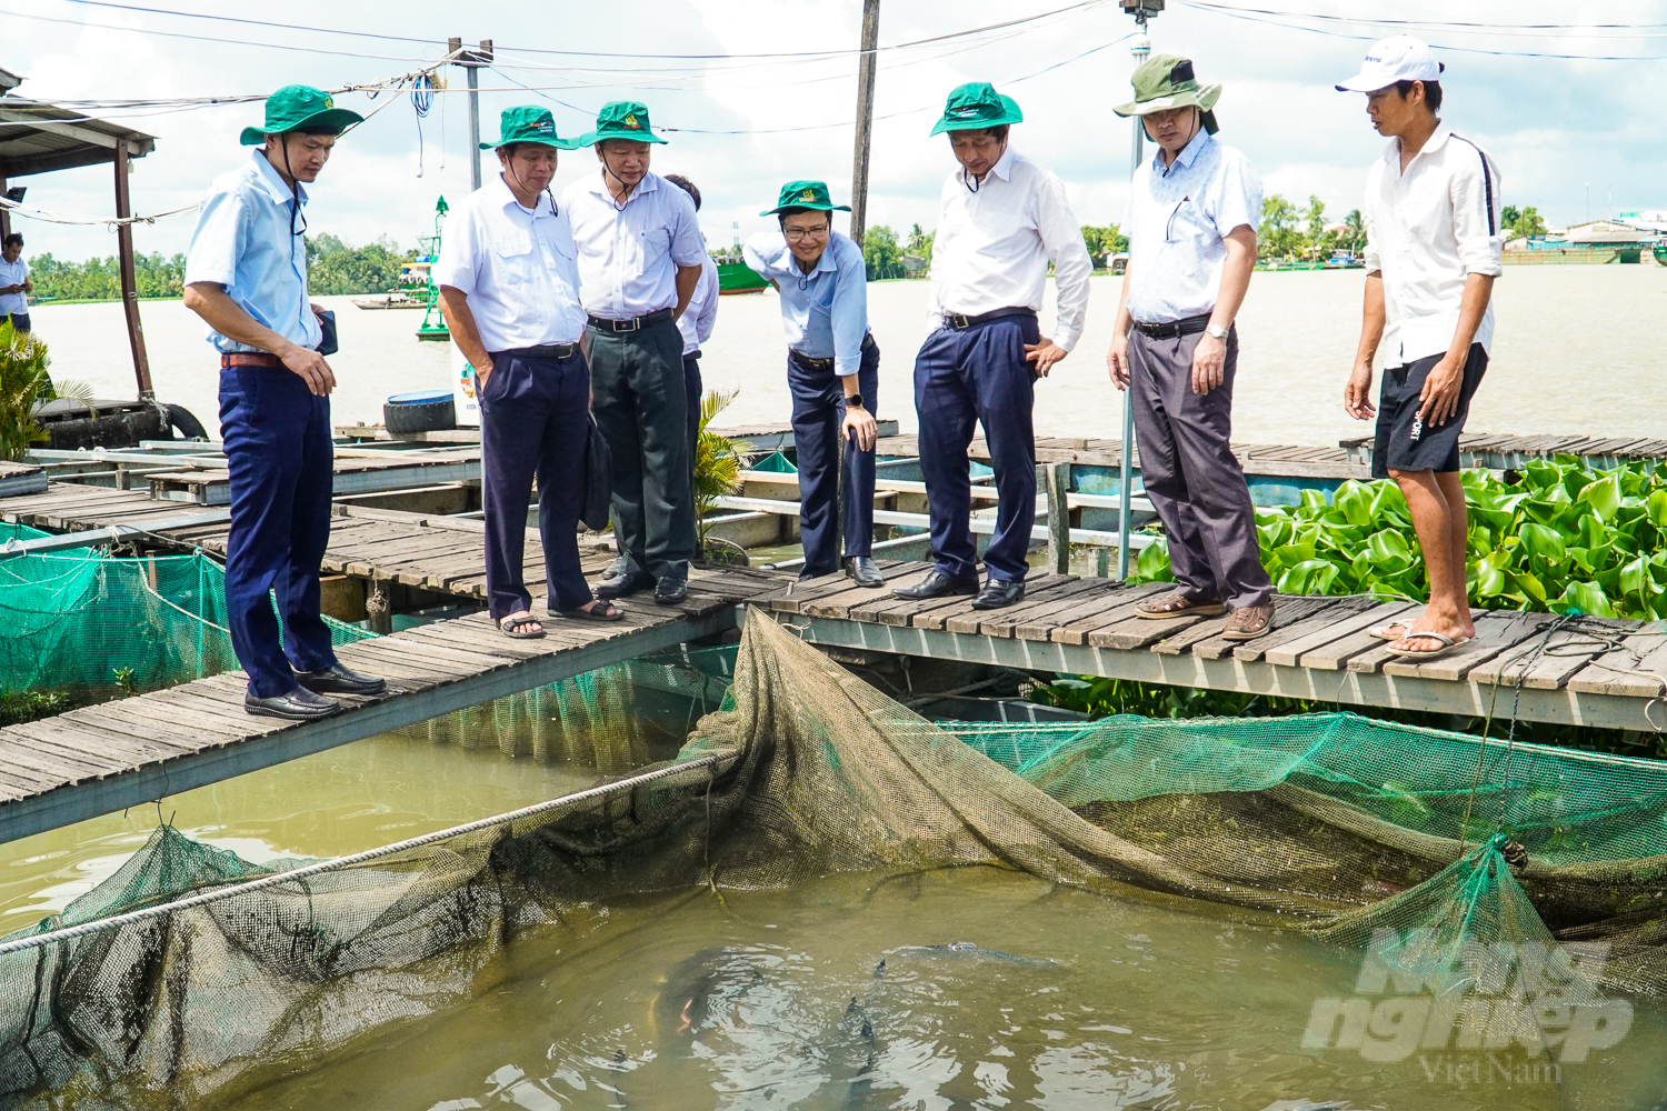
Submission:
M 585 496 L 590 373 L 585 356 L 493 351 L 480 388 L 480 500 L 487 511 L 487 610 L 492 620 L 532 606 L 522 578 L 527 505 L 538 480 L 538 540 L 548 610 L 590 601 L 578 566 L 578 511 Z

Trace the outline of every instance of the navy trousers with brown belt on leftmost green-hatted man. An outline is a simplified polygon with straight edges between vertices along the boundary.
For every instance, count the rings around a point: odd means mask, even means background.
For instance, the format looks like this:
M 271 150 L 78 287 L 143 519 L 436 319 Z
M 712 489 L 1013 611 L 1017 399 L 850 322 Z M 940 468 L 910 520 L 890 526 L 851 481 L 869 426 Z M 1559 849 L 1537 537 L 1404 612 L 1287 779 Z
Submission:
M 220 436 L 232 471 L 225 546 L 232 648 L 250 693 L 277 698 L 297 688 L 295 671 L 335 666 L 330 630 L 318 616 L 318 563 L 330 545 L 330 398 L 313 396 L 282 366 L 225 366 Z

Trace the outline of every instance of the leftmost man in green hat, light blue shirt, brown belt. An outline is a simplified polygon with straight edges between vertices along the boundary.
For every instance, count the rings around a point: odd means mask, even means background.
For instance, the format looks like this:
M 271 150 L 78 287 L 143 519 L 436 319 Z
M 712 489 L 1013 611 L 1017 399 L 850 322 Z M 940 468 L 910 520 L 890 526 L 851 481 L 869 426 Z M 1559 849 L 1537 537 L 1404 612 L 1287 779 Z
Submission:
M 220 436 L 232 473 L 227 626 L 248 671 L 245 710 L 273 718 L 323 718 L 342 708 L 327 695 L 383 688 L 337 663 L 318 615 L 335 375 L 318 353 L 322 310 L 307 298 L 302 240 L 303 183 L 318 178 L 337 137 L 362 118 L 307 85 L 272 93 L 265 127 L 242 135 L 260 150 L 208 187 L 185 257 L 185 306 L 208 323 L 220 355 Z

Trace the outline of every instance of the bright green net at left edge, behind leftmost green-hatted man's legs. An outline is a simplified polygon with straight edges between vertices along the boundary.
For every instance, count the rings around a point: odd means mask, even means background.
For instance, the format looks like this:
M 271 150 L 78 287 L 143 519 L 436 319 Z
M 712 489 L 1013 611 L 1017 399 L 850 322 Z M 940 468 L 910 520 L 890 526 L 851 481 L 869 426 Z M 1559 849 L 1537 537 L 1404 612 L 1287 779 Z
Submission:
M 335 645 L 372 636 L 332 618 L 325 623 Z M 73 548 L 0 560 L 5 690 L 102 701 L 237 666 L 225 568 L 202 553 L 117 558 Z

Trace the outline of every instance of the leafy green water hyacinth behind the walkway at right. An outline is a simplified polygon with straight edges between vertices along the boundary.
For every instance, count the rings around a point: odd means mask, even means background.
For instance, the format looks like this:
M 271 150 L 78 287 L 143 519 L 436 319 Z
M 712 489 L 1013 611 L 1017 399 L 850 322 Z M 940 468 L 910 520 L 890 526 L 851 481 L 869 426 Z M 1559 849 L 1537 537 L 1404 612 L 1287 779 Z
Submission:
M 1594 470 L 1579 456 L 1462 475 L 1470 605 L 1605 618 L 1667 618 L 1667 463 Z M 1262 563 L 1290 595 L 1427 596 L 1412 515 L 1394 481 L 1345 481 L 1327 501 L 1257 508 Z M 1130 581 L 1170 580 L 1162 540 Z

